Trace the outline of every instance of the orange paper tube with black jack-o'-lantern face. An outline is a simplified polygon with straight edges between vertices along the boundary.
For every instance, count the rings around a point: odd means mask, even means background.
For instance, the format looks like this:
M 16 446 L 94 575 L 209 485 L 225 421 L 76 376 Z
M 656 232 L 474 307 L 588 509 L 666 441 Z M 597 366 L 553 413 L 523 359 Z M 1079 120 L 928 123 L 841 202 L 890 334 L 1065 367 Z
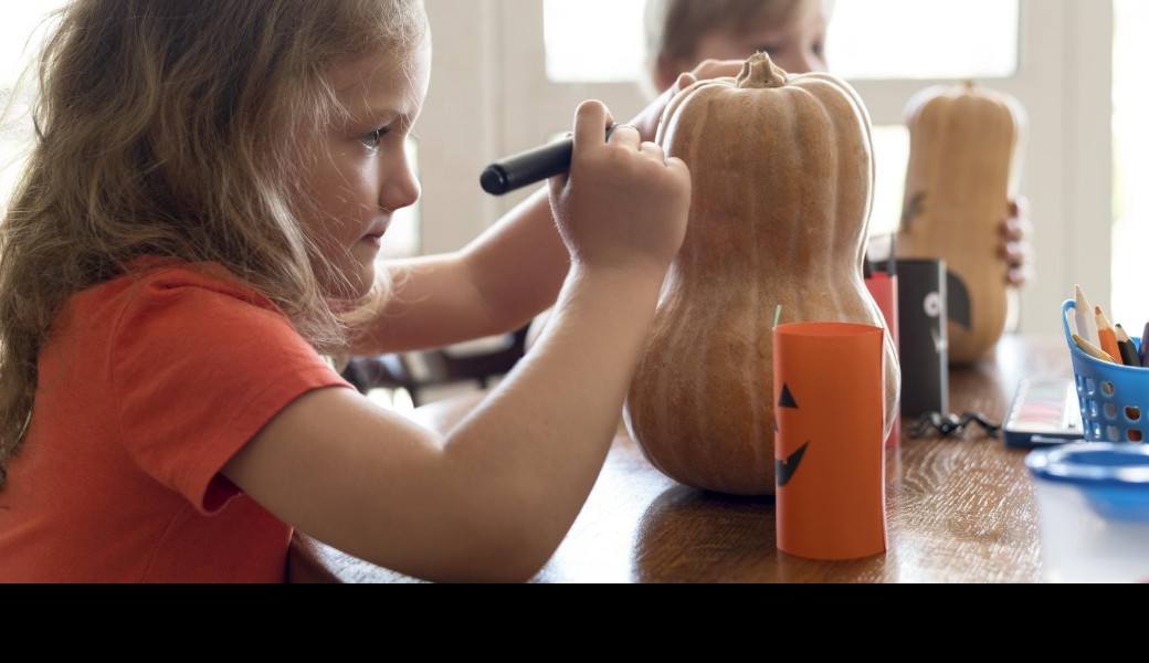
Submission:
M 880 327 L 774 330 L 778 549 L 812 560 L 886 550 Z

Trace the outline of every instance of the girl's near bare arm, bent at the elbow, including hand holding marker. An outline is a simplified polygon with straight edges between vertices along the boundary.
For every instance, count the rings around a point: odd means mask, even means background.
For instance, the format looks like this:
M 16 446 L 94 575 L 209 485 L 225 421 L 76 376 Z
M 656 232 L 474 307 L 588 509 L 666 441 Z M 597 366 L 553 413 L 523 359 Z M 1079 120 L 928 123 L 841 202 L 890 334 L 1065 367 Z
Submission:
M 597 102 L 552 182 L 570 255 L 547 333 L 446 435 L 349 390 L 288 406 L 224 468 L 286 523 L 432 580 L 523 580 L 550 557 L 606 458 L 689 209 L 689 174 Z M 518 242 L 519 252 L 534 247 Z M 499 254 L 486 263 L 526 256 Z M 519 287 L 533 290 L 531 284 Z

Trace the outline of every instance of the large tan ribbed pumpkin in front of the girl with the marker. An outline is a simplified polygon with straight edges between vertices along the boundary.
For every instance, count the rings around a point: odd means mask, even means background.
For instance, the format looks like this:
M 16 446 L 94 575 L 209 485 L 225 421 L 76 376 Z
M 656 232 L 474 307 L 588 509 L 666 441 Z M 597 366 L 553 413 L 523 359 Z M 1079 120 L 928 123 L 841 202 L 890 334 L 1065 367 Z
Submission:
M 784 322 L 885 327 L 862 278 L 874 176 L 869 115 L 846 83 L 822 74 L 787 80 L 757 54 L 738 79 L 679 93 L 658 142 L 691 169 L 691 219 L 627 394 L 626 425 L 647 458 L 683 484 L 770 495 L 777 307 Z M 888 334 L 885 360 L 888 429 L 901 375 Z

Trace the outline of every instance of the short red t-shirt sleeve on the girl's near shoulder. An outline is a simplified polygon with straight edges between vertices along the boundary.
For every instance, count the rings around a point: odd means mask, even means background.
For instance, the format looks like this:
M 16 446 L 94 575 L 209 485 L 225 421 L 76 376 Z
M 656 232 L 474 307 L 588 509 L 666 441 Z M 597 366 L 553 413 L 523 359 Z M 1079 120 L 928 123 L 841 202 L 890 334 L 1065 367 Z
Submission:
M 188 272 L 139 284 L 109 361 L 128 454 L 205 515 L 238 494 L 219 470 L 279 411 L 350 388 L 270 301 Z

